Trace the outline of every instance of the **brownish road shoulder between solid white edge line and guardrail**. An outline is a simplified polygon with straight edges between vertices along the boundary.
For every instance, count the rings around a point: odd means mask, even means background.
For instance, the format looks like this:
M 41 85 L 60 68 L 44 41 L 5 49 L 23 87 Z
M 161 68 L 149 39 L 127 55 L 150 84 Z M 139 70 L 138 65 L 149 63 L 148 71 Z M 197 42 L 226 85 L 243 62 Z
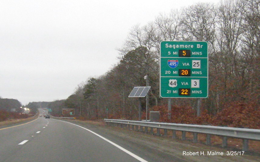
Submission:
M 151 159 L 159 159 L 165 157 L 160 161 L 224 161 L 224 162 L 256 162 L 260 159 L 258 155 L 238 155 L 228 156 L 226 150 L 219 147 L 207 146 L 200 143 L 192 143 L 191 141 L 174 140 L 171 138 L 158 137 L 143 132 L 128 130 L 126 128 L 110 127 L 102 123 L 92 121 L 79 120 L 64 120 L 73 124 L 86 127 L 97 134 L 126 146 L 128 149 L 133 148 L 132 151 L 137 150 L 145 152 Z M 190 155 L 191 154 L 191 155 Z M 204 154 L 204 155 L 203 155 Z M 223 155 L 222 155 L 223 154 Z

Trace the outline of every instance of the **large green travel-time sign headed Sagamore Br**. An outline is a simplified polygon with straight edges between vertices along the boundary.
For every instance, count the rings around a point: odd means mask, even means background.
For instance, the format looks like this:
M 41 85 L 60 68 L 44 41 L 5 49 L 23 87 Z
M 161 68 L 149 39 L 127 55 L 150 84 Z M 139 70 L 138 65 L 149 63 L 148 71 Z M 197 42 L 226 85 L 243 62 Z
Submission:
M 161 41 L 160 97 L 208 97 L 208 42 Z

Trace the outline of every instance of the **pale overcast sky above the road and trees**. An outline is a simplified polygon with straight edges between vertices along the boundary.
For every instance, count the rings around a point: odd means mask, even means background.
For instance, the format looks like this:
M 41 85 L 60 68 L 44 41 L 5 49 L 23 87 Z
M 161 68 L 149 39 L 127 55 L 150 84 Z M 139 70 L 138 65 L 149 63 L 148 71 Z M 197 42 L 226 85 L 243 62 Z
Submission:
M 1 0 L 0 96 L 66 99 L 118 62 L 130 28 L 159 13 L 218 0 Z

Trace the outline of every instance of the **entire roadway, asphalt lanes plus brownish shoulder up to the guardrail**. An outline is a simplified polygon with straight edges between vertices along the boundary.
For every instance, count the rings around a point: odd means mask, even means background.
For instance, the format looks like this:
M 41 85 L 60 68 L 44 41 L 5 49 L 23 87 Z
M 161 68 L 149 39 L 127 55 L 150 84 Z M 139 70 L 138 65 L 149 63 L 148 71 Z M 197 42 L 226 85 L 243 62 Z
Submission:
M 184 156 L 183 151 L 227 151 L 185 143 L 116 127 L 39 116 L 29 123 L 0 128 L 0 162 L 259 161 L 259 156 L 250 155 Z

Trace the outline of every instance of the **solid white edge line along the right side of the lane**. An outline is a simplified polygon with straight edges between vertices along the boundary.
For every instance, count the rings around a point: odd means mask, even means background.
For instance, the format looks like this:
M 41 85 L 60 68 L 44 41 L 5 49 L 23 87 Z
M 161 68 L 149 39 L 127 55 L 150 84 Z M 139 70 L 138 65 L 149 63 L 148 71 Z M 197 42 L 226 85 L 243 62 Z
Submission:
M 57 120 L 57 119 L 53 119 L 53 120 Z M 57 120 L 57 121 L 61 121 L 61 120 Z M 67 121 L 63 121 L 63 122 L 69 123 L 69 122 L 67 122 Z M 73 124 L 73 123 L 69 123 L 69 124 Z M 76 125 L 76 124 L 73 124 L 73 125 Z M 81 127 L 81 126 L 79 126 L 79 125 L 76 125 L 76 126 Z M 86 129 L 86 128 L 84 128 L 84 127 L 81 127 L 81 128 Z M 91 133 L 93 133 L 93 134 L 95 134 L 96 136 L 102 138 L 103 140 L 109 142 L 110 144 L 113 144 L 115 147 L 119 148 L 120 150 L 124 151 L 125 153 L 129 154 L 130 156 L 136 158 L 137 160 L 139 160 L 139 161 L 141 161 L 141 162 L 148 162 L 148 161 L 144 160 L 143 158 L 137 156 L 136 154 L 133 154 L 132 152 L 128 151 L 127 149 L 125 149 L 125 148 L 119 146 L 118 144 L 115 144 L 114 142 L 112 142 L 112 141 L 106 139 L 105 137 L 100 136 L 99 134 L 96 134 L 95 132 L 90 131 L 89 129 L 86 129 L 86 130 L 89 131 L 89 132 L 91 132 Z

